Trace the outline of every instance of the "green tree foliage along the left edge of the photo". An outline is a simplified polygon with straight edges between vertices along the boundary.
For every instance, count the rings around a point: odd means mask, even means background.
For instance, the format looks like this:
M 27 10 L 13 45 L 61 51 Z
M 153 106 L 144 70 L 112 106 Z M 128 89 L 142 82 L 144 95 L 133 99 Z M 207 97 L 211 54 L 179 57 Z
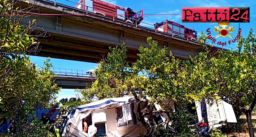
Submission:
M 26 117 L 38 105 L 49 107 L 47 103 L 60 90 L 52 79 L 50 59 L 38 68 L 25 54 L 38 48 L 37 39 L 30 36 L 35 20 L 21 25 L 23 17 L 14 16 L 20 12 L 13 8 L 15 2 L 0 1 L 1 15 L 11 15 L 0 17 L 0 118 Z

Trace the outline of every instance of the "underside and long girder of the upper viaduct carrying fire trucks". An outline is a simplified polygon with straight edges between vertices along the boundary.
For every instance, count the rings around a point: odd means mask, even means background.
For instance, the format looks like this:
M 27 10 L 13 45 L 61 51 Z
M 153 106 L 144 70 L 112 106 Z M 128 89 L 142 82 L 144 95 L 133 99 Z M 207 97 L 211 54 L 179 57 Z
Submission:
M 133 63 L 139 58 L 137 56 L 139 46 L 142 44 L 149 47 L 146 39 L 150 36 L 158 41 L 159 48 L 168 47 L 167 54 L 172 51 L 173 55 L 179 59 L 189 59 L 189 55 L 195 56 L 202 48 L 195 41 L 142 26 L 136 27 L 133 24 L 113 21 L 111 18 L 100 15 L 70 16 L 86 13 L 69 6 L 58 7 L 60 5 L 58 3 L 54 6 L 53 2 L 46 2 L 46 0 L 28 1 L 34 3 L 39 9 L 37 14 L 69 14 L 69 16 L 30 16 L 23 19 L 22 24 L 36 19 L 37 30 L 47 32 L 47 37 L 39 38 L 42 47 L 37 56 L 96 63 L 102 59 L 102 56 L 109 53 L 109 47 L 125 42 L 128 48 L 126 61 Z M 16 6 L 26 8 L 27 3 L 21 0 Z M 216 50 L 221 49 L 215 48 Z

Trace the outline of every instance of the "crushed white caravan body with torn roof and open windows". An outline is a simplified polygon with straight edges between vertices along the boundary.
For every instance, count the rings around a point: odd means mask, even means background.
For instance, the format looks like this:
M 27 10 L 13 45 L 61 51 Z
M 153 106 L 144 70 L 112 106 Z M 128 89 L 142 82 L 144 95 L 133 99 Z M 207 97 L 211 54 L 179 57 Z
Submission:
M 97 128 L 97 132 L 95 131 L 97 137 L 138 137 L 139 133 L 146 133 L 146 129 L 139 120 L 138 105 L 142 113 L 149 111 L 148 99 L 136 101 L 130 96 L 103 99 L 76 107 L 67 116 L 65 126 L 61 130 L 62 137 L 90 137 L 90 131 L 89 134 L 86 130 L 84 132 L 84 122 L 87 123 L 88 130 L 90 125 Z M 154 105 L 153 108 L 161 109 L 159 105 Z M 148 116 L 144 118 L 147 121 Z M 153 120 L 156 125 L 166 124 L 168 115 L 154 113 Z

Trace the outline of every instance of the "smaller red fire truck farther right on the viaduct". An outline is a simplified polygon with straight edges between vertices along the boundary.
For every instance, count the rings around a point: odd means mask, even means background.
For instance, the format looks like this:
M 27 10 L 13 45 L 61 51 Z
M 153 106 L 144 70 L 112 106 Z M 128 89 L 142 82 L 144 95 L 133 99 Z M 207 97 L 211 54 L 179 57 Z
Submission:
M 162 23 L 156 23 L 154 25 L 158 31 L 169 34 L 172 34 L 173 32 L 173 35 L 197 41 L 197 31 L 184 27 L 184 25 L 169 20 L 165 20 Z

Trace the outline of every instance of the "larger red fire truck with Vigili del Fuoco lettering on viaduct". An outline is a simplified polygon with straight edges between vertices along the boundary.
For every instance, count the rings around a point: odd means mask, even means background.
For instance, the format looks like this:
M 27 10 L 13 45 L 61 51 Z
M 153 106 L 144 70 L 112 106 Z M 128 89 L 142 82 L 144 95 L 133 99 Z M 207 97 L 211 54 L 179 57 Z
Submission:
M 113 18 L 114 14 L 115 20 L 125 21 L 132 24 L 135 24 L 135 21 L 137 20 L 137 25 L 143 20 L 143 10 L 136 13 L 131 8 L 122 8 L 101 0 L 80 0 L 76 5 L 76 8 L 110 18 Z

